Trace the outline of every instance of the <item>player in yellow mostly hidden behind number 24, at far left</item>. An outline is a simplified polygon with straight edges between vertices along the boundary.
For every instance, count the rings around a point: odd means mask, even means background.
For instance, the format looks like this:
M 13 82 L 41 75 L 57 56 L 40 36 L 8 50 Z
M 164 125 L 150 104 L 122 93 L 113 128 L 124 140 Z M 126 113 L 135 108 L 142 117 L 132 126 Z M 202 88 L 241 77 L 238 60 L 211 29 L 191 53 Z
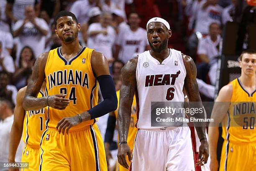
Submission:
M 44 113 L 45 108 L 37 111 L 25 111 L 22 107 L 23 98 L 27 87 L 18 91 L 16 106 L 14 109 L 13 126 L 10 133 L 9 162 L 15 162 L 15 155 L 23 135 L 24 150 L 21 162 L 28 162 L 29 168 L 26 171 L 38 171 L 40 163 L 40 141 L 46 129 Z M 41 87 L 37 97 L 45 96 L 45 82 Z M 9 168 L 9 171 L 19 171 L 18 168 Z

